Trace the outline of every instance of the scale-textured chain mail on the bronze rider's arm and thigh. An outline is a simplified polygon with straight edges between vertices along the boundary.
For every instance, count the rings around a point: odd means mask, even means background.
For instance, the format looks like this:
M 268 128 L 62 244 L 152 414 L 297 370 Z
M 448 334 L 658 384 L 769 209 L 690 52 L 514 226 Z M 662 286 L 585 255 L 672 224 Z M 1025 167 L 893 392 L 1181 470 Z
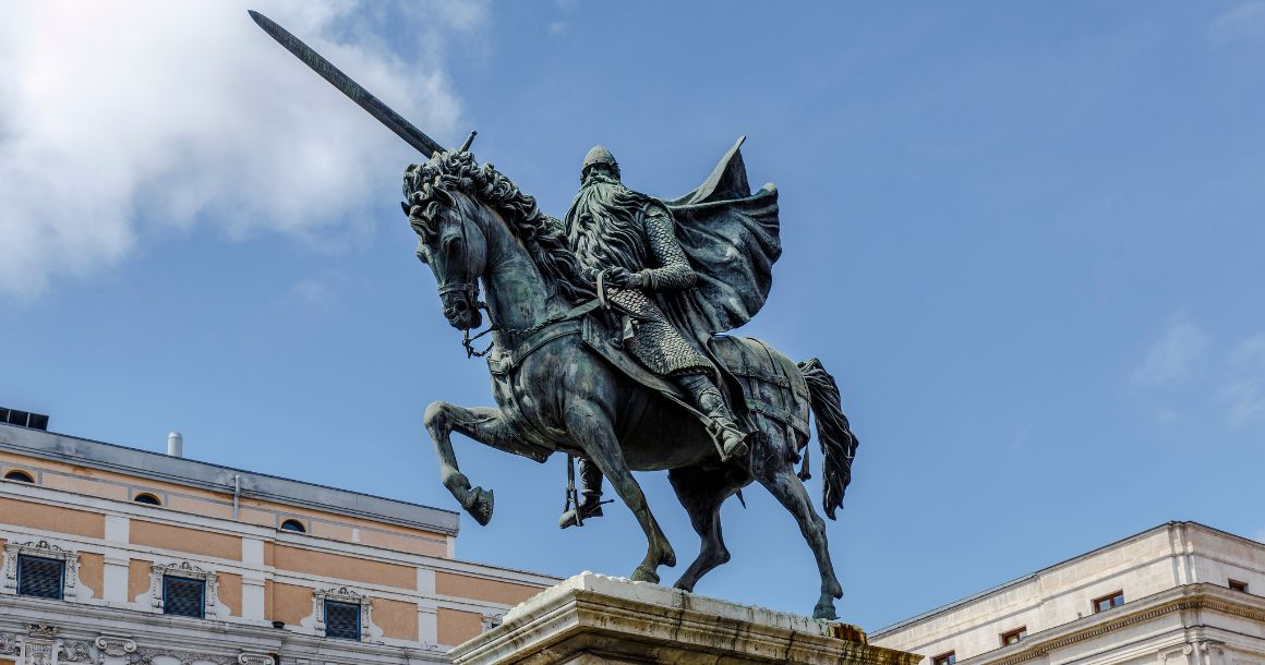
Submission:
M 672 212 L 653 202 L 641 215 L 648 257 L 643 271 L 649 276 L 649 291 L 681 291 L 694 286 L 697 274 L 677 241 Z M 586 265 L 601 271 L 610 265 Z M 660 375 L 711 373 L 712 363 L 668 321 L 654 298 L 641 288 L 612 288 L 611 302 L 631 319 L 632 336 L 624 346 L 648 369 Z

